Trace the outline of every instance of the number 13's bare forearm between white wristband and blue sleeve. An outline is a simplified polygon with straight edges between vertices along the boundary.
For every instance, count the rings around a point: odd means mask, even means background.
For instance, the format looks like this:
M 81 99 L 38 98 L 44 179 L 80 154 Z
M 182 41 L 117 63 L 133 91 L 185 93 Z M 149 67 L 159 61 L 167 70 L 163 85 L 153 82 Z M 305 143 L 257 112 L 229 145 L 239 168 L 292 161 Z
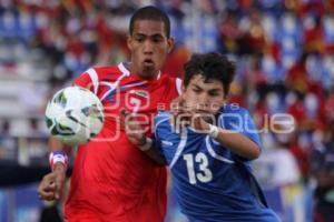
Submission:
M 261 149 L 255 142 L 230 130 L 218 128 L 218 134 L 215 140 L 232 152 L 249 160 L 257 159 L 261 154 Z

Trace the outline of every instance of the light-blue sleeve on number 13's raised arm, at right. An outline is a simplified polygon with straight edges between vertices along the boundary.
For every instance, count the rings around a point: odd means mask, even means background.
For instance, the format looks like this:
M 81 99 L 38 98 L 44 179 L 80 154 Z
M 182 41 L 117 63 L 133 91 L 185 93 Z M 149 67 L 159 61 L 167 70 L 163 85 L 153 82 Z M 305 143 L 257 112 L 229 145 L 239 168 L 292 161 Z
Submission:
M 253 118 L 247 110 L 238 108 L 223 112 L 219 115 L 218 125 L 226 130 L 233 130 L 242 133 L 262 148 L 258 130 L 256 129 Z

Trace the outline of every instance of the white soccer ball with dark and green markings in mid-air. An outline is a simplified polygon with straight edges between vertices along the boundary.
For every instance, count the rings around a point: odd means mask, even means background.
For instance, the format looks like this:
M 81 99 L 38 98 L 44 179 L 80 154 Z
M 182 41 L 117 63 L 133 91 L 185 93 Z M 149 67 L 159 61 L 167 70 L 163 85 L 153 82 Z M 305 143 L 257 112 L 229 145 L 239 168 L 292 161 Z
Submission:
M 104 124 L 104 107 L 88 89 L 68 87 L 58 91 L 46 109 L 47 127 L 55 138 L 68 145 L 87 143 Z

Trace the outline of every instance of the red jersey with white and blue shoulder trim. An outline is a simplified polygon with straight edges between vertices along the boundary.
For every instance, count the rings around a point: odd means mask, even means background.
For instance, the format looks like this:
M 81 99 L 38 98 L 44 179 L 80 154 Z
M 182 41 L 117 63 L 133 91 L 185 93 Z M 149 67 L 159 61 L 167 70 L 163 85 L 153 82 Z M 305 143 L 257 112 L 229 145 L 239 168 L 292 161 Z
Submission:
M 166 213 L 166 170 L 127 139 L 120 110 L 137 112 L 147 134 L 154 115 L 179 94 L 180 80 L 144 80 L 118 67 L 89 69 L 73 84 L 101 100 L 101 132 L 78 149 L 65 215 L 69 222 L 160 222 Z

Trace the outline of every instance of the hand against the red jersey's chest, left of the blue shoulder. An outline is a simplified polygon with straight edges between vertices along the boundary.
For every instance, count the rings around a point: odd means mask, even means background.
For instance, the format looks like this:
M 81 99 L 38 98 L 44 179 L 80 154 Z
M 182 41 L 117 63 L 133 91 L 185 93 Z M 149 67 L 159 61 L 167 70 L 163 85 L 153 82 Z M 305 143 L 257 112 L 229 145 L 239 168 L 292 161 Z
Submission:
M 122 109 L 121 111 L 121 123 L 125 125 L 126 134 L 129 141 L 136 145 L 140 147 L 146 142 L 146 135 L 136 118 L 136 114 Z

